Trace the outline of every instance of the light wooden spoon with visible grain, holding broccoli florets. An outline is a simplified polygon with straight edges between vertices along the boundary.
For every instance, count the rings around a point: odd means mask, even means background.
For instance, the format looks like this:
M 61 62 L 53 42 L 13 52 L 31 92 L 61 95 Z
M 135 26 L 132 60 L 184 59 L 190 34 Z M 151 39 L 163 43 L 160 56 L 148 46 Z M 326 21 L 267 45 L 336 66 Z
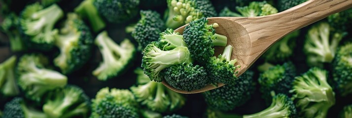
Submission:
M 317 22 L 331 14 L 352 7 L 352 0 L 309 0 L 277 14 L 261 17 L 213 17 L 209 24 L 217 23 L 216 33 L 227 36 L 227 45 L 232 45 L 231 59 L 238 59 L 240 76 L 244 73 L 272 44 L 283 36 Z M 351 21 L 352 22 L 352 21 Z M 187 26 L 187 25 L 185 25 Z M 183 32 L 185 26 L 176 29 Z M 224 47 L 214 47 L 215 56 L 222 53 Z M 175 89 L 162 82 L 167 88 L 179 93 L 199 93 L 218 87 L 208 85 L 203 89 L 192 91 Z

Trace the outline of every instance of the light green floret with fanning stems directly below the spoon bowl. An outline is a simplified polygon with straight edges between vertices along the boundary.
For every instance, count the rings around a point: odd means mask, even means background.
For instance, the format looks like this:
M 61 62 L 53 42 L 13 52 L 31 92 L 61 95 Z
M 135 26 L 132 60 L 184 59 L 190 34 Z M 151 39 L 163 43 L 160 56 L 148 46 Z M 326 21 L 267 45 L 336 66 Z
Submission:
M 131 91 L 141 105 L 152 111 L 164 113 L 176 111 L 185 104 L 185 98 L 181 94 L 166 88 L 161 83 L 153 81 L 140 83 L 149 78 L 140 72 L 136 74 L 138 86 L 131 87 Z

